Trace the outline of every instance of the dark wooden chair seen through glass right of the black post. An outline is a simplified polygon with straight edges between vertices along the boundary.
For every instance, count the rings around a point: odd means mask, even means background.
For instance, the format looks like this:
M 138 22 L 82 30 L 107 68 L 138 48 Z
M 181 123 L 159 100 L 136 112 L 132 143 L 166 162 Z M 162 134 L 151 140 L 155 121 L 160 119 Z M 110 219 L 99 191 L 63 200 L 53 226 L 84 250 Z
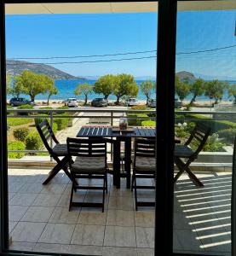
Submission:
M 197 124 L 190 137 L 187 139 L 187 142 L 184 145 L 176 145 L 175 147 L 175 163 L 179 169 L 179 172 L 174 177 L 174 183 L 181 176 L 183 172 L 187 172 L 188 177 L 199 187 L 203 187 L 204 184 L 196 177 L 193 172 L 190 170 L 189 166 L 191 163 L 196 160 L 199 156 L 199 153 L 204 148 L 204 144 L 207 141 L 207 138 L 210 136 L 210 128 L 202 124 Z M 197 148 L 193 150 L 189 147 L 190 143 L 195 142 Z M 184 161 L 185 159 L 185 161 Z

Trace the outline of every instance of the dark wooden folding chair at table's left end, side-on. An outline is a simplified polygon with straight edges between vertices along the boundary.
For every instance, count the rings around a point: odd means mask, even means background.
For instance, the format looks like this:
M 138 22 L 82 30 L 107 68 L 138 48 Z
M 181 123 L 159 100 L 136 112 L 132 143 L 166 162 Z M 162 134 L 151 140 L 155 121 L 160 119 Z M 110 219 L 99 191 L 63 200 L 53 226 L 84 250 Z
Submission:
M 50 157 L 52 157 L 57 162 L 57 165 L 49 172 L 49 177 L 46 178 L 46 180 L 43 182 L 43 185 L 49 183 L 49 181 L 55 177 L 55 175 L 60 172 L 61 169 L 70 179 L 72 179 L 71 174 L 68 171 L 69 157 L 66 144 L 60 144 L 58 142 L 47 119 L 43 120 L 43 122 L 36 127 L 40 137 L 42 138 L 45 148 L 47 148 L 49 151 Z M 49 145 L 50 139 L 52 139 L 55 143 L 53 148 L 51 148 Z M 62 160 L 60 160 L 60 156 L 63 157 Z

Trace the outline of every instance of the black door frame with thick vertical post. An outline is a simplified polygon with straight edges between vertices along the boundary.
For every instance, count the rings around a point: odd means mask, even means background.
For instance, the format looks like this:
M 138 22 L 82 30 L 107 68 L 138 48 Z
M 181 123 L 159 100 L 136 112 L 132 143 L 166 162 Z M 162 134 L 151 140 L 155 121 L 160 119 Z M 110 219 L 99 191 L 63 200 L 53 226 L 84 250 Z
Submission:
M 185 1 L 185 0 L 181 0 Z M 204 1 L 204 0 L 202 0 Z M 19 255 L 7 251 L 8 247 L 8 164 L 7 164 L 7 113 L 6 113 L 6 45 L 5 45 L 5 3 L 65 3 L 65 1 L 8 1 L 0 3 L 0 254 Z M 70 0 L 70 3 L 84 1 Z M 86 1 L 111 2 L 111 1 Z M 124 2 L 124 1 L 116 1 Z M 128 2 L 128 1 L 127 1 Z M 145 2 L 145 1 L 136 1 Z M 176 70 L 176 13 L 177 0 L 158 0 L 158 56 L 157 56 L 157 179 L 156 179 L 156 221 L 155 255 L 187 255 L 173 253 L 173 202 L 174 202 L 174 99 Z M 161 63 L 161 65 L 158 65 Z M 160 181 L 160 182 L 159 182 Z M 59 253 L 29 253 L 59 255 Z M 188 255 L 190 255 L 188 253 Z M 197 255 L 197 254 L 192 254 Z M 201 254 L 203 255 L 203 254 Z

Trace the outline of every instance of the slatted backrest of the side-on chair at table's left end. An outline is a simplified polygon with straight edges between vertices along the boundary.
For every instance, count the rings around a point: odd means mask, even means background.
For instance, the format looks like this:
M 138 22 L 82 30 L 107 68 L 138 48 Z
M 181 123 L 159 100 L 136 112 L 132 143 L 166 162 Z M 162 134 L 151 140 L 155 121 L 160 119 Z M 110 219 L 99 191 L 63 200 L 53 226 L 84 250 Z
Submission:
M 52 139 L 56 144 L 58 144 L 58 140 L 55 137 L 55 134 L 52 130 L 52 127 L 49 125 L 47 119 L 44 119 L 39 125 L 36 126 L 37 131 L 43 141 L 44 146 L 48 149 L 49 153 L 51 154 L 53 149 L 49 145 L 49 139 Z

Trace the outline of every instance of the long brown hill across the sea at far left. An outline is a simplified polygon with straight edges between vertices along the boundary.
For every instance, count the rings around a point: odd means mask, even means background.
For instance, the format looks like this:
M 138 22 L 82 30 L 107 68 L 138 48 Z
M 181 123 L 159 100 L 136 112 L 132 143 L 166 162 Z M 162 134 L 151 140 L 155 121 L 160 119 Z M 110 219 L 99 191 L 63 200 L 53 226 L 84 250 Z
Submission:
M 55 67 L 45 65 L 45 64 L 37 64 L 27 61 L 12 61 L 7 60 L 7 74 L 12 76 L 19 75 L 24 70 L 28 70 L 38 74 L 48 75 L 52 79 L 83 79 L 79 77 L 74 77 L 69 73 L 65 73 Z

